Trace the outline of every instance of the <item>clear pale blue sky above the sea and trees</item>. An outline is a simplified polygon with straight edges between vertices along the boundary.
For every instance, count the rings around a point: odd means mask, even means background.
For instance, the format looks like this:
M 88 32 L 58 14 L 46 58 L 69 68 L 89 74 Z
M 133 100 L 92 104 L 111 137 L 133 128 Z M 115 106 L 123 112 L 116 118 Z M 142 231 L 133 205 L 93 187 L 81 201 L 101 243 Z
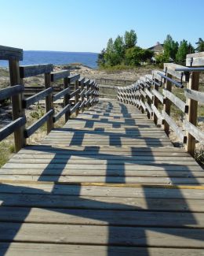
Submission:
M 99 52 L 134 29 L 142 47 L 167 34 L 204 39 L 203 0 L 0 0 L 0 45 L 24 50 Z

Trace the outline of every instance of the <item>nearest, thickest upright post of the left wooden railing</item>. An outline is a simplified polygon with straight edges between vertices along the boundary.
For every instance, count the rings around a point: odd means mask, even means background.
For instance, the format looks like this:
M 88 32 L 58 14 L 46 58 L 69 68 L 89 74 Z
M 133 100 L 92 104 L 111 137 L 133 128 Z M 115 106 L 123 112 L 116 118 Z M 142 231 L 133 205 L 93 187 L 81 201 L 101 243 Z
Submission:
M 21 84 L 18 60 L 9 60 L 9 73 L 11 86 Z M 23 94 L 14 95 L 12 97 L 13 121 L 19 117 L 25 117 L 25 111 L 22 107 L 23 97 Z M 22 147 L 26 145 L 24 130 L 25 125 L 21 126 L 20 128 L 17 128 L 14 132 L 15 152 L 18 152 Z

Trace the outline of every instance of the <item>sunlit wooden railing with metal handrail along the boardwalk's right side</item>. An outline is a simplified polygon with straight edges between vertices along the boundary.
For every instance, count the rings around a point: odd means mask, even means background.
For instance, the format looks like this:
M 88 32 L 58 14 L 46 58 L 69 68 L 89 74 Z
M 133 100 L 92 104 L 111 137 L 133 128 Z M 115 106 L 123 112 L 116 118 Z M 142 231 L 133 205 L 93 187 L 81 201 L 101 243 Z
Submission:
M 146 112 L 155 124 L 163 126 L 167 135 L 171 128 L 194 156 L 195 143 L 204 143 L 204 133 L 196 127 L 198 102 L 204 103 L 204 92 L 199 91 L 200 72 L 204 72 L 204 53 L 188 54 L 186 66 L 166 63 L 163 72 L 153 70 L 128 87 L 118 87 L 118 101 L 133 104 L 142 113 Z M 173 86 L 180 88 L 185 102 L 173 94 Z M 171 117 L 172 104 L 184 115 L 183 128 Z

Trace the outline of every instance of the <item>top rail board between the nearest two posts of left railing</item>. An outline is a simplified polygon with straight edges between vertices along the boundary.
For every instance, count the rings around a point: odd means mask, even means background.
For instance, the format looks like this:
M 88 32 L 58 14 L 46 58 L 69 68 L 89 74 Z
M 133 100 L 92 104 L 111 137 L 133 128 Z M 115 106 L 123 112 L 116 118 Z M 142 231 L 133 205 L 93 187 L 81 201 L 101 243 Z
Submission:
M 21 65 L 20 66 L 20 77 L 25 78 L 29 76 L 38 76 L 44 73 L 53 71 L 52 64 L 41 64 L 41 65 Z

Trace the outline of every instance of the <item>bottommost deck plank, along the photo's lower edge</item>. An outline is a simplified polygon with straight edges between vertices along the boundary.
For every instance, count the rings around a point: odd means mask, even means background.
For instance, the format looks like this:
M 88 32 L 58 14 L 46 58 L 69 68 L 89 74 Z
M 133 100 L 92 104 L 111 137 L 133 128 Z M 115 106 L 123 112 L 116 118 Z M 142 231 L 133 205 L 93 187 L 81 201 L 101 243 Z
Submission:
M 91 254 L 97 254 L 98 256 L 134 256 L 136 253 L 140 256 L 161 256 L 165 253 L 166 256 L 180 255 L 180 256 L 203 256 L 202 249 L 180 249 L 180 248 L 154 248 L 154 247 L 112 247 L 112 246 L 94 246 L 94 245 L 73 245 L 73 244 L 43 244 L 40 246 L 38 243 L 0 243 L 0 253 L 4 254 L 6 250 L 7 256 L 13 256 L 14 254 L 20 255 L 26 251 L 27 256 L 50 256 L 50 255 L 84 255 L 89 256 Z

